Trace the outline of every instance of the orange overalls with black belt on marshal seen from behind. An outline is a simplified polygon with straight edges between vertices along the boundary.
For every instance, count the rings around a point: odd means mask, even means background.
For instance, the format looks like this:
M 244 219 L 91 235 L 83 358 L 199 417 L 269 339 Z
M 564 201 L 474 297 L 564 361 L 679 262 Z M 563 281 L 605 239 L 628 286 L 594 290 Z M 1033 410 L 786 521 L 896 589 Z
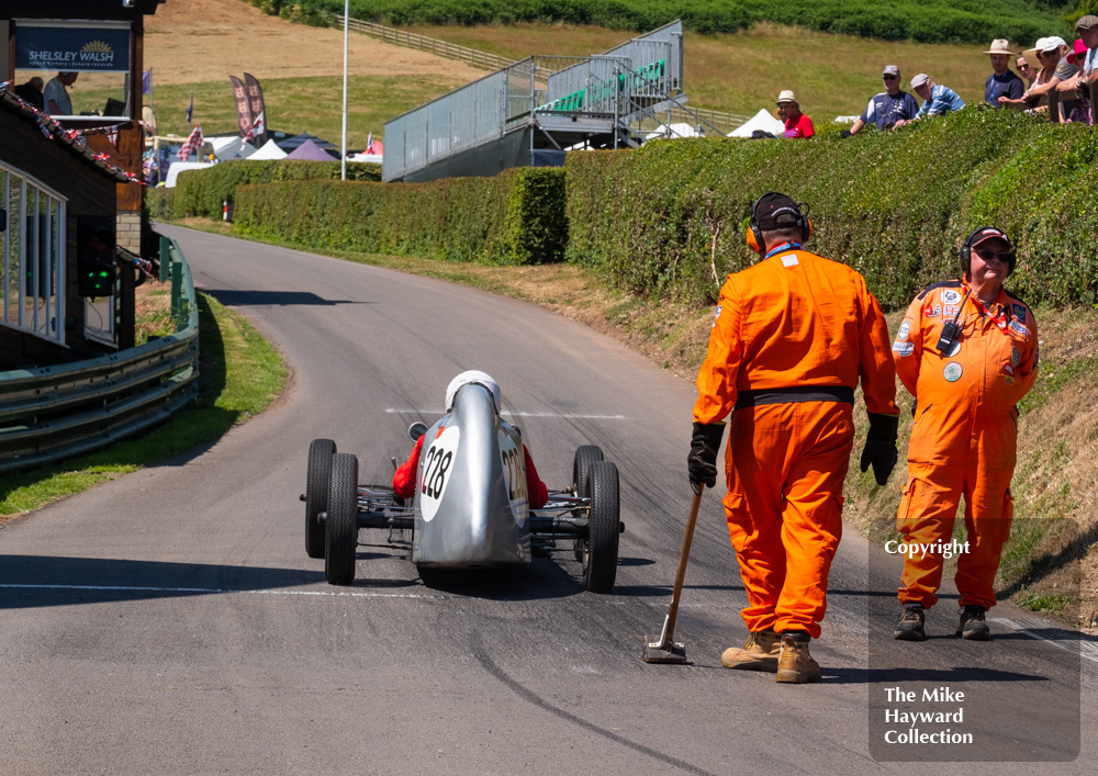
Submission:
M 728 277 L 694 419 L 736 411 L 725 513 L 752 632 L 819 638 L 859 378 L 871 413 L 899 413 L 888 328 L 861 274 L 789 249 Z

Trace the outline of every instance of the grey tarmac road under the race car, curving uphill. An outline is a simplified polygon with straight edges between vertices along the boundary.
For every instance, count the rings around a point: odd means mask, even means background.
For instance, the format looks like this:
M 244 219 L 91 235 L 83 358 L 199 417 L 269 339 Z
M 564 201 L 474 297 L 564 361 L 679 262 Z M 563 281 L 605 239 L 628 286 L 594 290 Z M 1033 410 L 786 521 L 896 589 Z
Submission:
M 993 623 L 996 641 L 944 638 L 952 601 L 929 623 L 943 638 L 894 642 L 895 559 L 853 532 L 813 645 L 825 682 L 720 667 L 746 637 L 746 599 L 719 493 L 705 496 L 680 616 L 692 664 L 641 663 L 690 503 L 690 382 L 525 303 L 164 232 L 197 285 L 278 346 L 292 380 L 283 401 L 209 449 L 0 531 L 0 773 L 910 772 L 875 756 L 1060 761 L 976 766 L 994 774 L 1098 769 L 1094 643 L 1033 622 L 1017 632 L 1026 615 L 1007 606 L 993 611 L 1013 618 Z M 440 414 L 464 369 L 500 382 L 551 487 L 571 480 L 581 443 L 617 462 L 627 532 L 612 595 L 585 593 L 567 555 L 427 587 L 402 552 L 367 547 L 345 588 L 305 556 L 309 441 L 334 438 L 359 456 L 365 482 L 384 481 L 390 457 L 411 448 L 407 425 Z M 900 685 L 965 690 L 945 704 L 964 706 L 963 723 L 921 728 L 975 743 L 885 746 L 879 717 L 900 705 L 884 689 Z

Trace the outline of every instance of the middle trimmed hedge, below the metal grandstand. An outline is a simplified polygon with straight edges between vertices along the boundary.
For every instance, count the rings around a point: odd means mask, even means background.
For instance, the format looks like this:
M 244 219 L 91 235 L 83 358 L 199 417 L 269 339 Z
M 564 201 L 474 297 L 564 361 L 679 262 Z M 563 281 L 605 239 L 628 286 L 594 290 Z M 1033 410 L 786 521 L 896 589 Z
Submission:
M 486 263 L 560 261 L 564 171 L 432 183 L 282 181 L 236 190 L 233 230 L 316 250 Z

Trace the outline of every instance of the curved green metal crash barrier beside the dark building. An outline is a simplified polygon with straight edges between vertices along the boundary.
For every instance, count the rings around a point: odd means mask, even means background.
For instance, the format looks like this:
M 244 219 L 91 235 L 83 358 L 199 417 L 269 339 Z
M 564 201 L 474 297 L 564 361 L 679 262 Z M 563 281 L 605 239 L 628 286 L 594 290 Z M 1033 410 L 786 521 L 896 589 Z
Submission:
M 161 277 L 169 263 L 175 334 L 88 361 L 0 372 L 0 474 L 105 447 L 198 395 L 194 283 L 179 246 L 161 237 Z

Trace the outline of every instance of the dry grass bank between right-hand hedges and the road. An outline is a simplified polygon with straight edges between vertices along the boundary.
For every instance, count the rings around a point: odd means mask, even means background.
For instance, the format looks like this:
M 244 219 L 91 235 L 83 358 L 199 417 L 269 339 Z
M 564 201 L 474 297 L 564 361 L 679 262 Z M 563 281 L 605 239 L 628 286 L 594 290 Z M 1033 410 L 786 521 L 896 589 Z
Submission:
M 219 221 L 188 218 L 177 223 L 229 233 L 229 225 Z M 285 241 L 258 241 L 300 248 Z M 712 307 L 632 296 L 607 288 L 594 271 L 583 267 L 485 266 L 346 250 L 325 252 L 531 302 L 618 339 L 684 380 L 694 380 L 705 358 Z M 1012 485 L 1019 520 L 1004 556 L 998 589 L 1023 606 L 1087 627 L 1098 625 L 1098 384 L 1091 376 L 1098 369 L 1098 310 L 1039 308 L 1035 314 L 1042 341 L 1041 371 L 1019 405 L 1018 466 Z M 889 315 L 892 331 L 901 318 L 901 313 Z M 892 525 L 905 481 L 903 451 L 911 431 L 911 397 L 898 382 L 897 392 L 901 405 L 900 464 L 885 487 L 876 485 L 872 472 L 859 472 L 856 460 L 847 479 L 843 519 L 869 535 L 875 526 Z M 866 431 L 863 407 L 855 412 L 855 459 Z

